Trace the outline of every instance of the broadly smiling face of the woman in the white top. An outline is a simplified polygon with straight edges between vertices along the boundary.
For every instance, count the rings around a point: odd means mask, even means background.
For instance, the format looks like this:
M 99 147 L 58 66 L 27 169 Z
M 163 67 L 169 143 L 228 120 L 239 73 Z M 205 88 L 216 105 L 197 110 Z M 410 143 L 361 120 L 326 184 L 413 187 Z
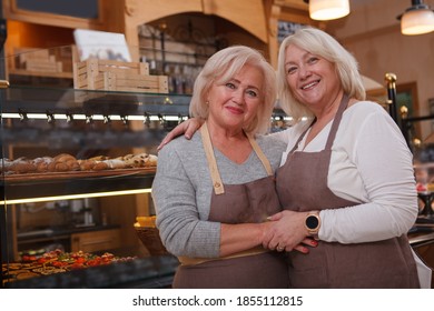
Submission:
M 309 109 L 320 109 L 342 91 L 332 62 L 290 44 L 285 51 L 286 81 L 294 97 Z

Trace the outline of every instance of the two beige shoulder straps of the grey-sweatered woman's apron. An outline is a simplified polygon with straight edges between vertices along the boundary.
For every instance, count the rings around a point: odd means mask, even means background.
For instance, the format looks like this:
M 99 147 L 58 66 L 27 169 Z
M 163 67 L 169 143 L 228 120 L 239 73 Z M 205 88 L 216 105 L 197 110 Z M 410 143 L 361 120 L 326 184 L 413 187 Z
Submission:
M 207 122 L 205 122 L 200 127 L 200 133 L 201 133 L 203 143 L 204 143 L 205 154 L 206 154 L 207 160 L 208 160 L 209 171 L 211 174 L 214 192 L 216 194 L 223 194 L 223 193 L 225 193 L 225 188 L 224 188 L 223 182 L 221 182 L 220 173 L 218 172 L 217 161 L 216 161 L 216 157 L 214 154 L 213 143 L 211 143 L 211 139 L 209 137 Z M 259 144 L 257 143 L 257 141 L 249 134 L 247 136 L 247 138 L 251 144 L 253 150 L 255 151 L 256 156 L 259 158 L 265 170 L 267 171 L 267 174 L 273 175 L 274 173 L 273 173 L 272 164 L 269 163 L 267 157 L 265 157 L 263 150 L 259 148 Z

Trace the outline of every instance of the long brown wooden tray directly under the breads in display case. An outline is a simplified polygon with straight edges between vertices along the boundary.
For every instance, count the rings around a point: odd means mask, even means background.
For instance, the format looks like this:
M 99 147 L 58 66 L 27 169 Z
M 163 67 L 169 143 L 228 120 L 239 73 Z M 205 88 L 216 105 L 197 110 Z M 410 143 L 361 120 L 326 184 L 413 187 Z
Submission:
M 111 178 L 127 177 L 137 174 L 155 174 L 156 167 L 134 168 L 134 169 L 114 169 L 102 171 L 67 171 L 67 172 L 41 172 L 41 173 L 17 173 L 3 177 L 3 182 L 29 182 L 43 180 L 70 180 L 75 178 Z

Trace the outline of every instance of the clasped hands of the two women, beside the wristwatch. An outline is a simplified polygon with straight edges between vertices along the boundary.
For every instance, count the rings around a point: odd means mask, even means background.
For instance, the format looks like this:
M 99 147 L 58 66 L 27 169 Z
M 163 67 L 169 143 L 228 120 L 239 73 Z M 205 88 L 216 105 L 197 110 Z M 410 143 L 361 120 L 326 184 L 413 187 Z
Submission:
M 306 214 L 295 211 L 282 211 L 268 218 L 263 235 L 263 247 L 279 252 L 293 250 L 308 253 L 308 247 L 316 247 L 318 242 L 308 237 L 304 225 Z

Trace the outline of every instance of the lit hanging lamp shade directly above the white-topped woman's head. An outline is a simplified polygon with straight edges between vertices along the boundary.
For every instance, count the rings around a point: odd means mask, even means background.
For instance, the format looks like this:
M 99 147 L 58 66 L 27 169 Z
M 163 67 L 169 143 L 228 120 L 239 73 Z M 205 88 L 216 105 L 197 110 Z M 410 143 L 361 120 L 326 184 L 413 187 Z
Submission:
M 334 20 L 349 14 L 348 0 L 304 0 L 313 20 Z

